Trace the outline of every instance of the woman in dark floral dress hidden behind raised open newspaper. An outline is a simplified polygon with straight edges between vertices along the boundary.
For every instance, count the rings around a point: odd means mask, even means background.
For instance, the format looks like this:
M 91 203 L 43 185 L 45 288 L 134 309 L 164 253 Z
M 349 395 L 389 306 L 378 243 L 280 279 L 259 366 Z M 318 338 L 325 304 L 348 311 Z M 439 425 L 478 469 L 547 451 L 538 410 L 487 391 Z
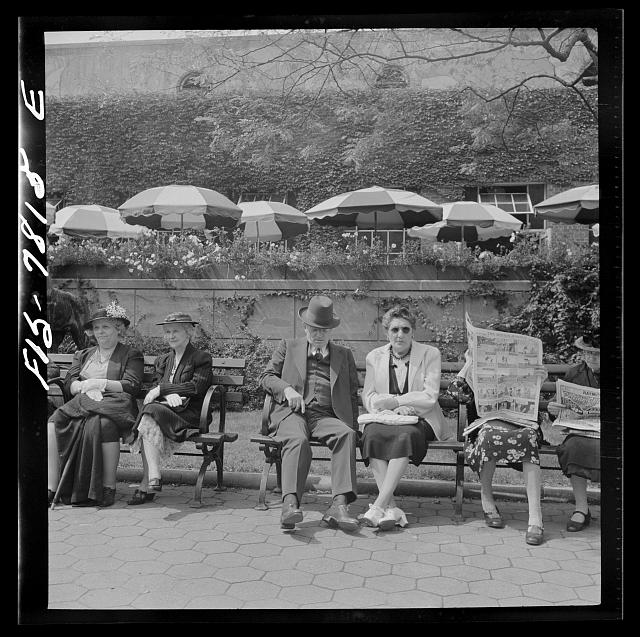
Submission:
M 534 365 L 534 374 L 544 374 L 544 368 Z M 465 352 L 465 364 L 451 383 L 449 392 L 456 394 L 467 403 L 467 417 L 471 425 L 478 420 L 473 392 L 473 356 L 470 350 Z M 508 402 L 508 401 L 507 401 Z M 510 405 L 506 407 L 510 408 Z M 484 420 L 484 419 L 483 419 Z M 496 465 L 522 471 L 529 503 L 529 521 L 525 541 L 527 544 L 542 544 L 544 526 L 540 505 L 541 471 L 539 447 L 543 443 L 538 421 L 530 425 L 517 425 L 500 418 L 489 418 L 467 436 L 465 458 L 467 464 L 480 477 L 480 498 L 485 523 L 489 528 L 504 528 L 505 522 L 493 497 L 493 475 Z

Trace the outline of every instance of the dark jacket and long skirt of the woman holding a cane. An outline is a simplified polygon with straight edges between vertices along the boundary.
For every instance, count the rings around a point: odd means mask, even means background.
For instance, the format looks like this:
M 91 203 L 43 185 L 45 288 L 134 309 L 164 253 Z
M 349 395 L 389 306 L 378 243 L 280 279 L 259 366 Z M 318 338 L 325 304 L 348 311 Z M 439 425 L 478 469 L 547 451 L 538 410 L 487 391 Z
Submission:
M 97 347 L 76 352 L 65 377 L 65 395 L 78 380 L 85 363 Z M 61 474 L 60 499 L 66 504 L 102 500 L 102 443 L 114 442 L 129 435 L 138 413 L 135 401 L 144 373 L 141 352 L 118 343 L 107 365 L 107 379 L 122 384 L 122 392 L 105 392 L 101 401 L 86 394 L 76 394 L 49 417 L 56 428 Z M 65 472 L 67 460 L 77 446 L 75 457 Z

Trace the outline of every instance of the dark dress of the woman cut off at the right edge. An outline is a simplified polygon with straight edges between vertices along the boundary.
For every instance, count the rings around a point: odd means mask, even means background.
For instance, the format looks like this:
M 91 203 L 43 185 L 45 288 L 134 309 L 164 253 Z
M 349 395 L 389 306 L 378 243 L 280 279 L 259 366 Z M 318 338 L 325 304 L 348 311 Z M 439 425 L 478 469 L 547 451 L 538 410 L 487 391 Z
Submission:
M 585 387 L 600 387 L 600 379 L 583 361 L 567 371 L 564 380 Z M 565 476 L 580 476 L 600 482 L 600 439 L 570 433 L 556 447 L 558 463 Z

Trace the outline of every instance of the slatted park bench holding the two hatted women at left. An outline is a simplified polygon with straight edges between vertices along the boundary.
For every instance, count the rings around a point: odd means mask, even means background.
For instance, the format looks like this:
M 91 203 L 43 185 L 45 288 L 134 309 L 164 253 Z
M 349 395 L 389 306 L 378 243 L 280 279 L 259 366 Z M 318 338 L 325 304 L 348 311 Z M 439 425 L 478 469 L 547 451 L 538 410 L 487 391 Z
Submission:
M 48 398 L 55 406 L 62 404 L 69 396 L 65 396 L 63 386 L 64 378 L 71 367 L 73 354 L 49 354 L 50 373 L 53 375 L 48 380 Z M 137 398 L 138 407 L 142 406 L 144 395 L 153 384 L 153 372 L 155 366 L 155 356 L 144 357 L 144 378 L 142 389 Z M 213 462 L 217 471 L 217 491 L 224 490 L 224 445 L 227 442 L 234 442 L 238 439 L 237 433 L 225 431 L 227 407 L 231 405 L 242 405 L 244 396 L 238 391 L 244 384 L 244 370 L 246 362 L 244 358 L 214 358 L 213 359 L 213 380 L 207 389 L 200 411 L 199 430 L 187 437 L 185 442 L 195 443 L 195 447 L 201 453 L 191 451 L 177 451 L 176 455 L 200 457 L 202 464 L 196 479 L 194 501 L 192 507 L 202 506 L 202 484 L 209 465 Z M 214 411 L 218 406 L 217 412 Z M 217 413 L 217 425 L 215 417 Z M 121 447 L 121 451 L 128 453 L 126 446 Z

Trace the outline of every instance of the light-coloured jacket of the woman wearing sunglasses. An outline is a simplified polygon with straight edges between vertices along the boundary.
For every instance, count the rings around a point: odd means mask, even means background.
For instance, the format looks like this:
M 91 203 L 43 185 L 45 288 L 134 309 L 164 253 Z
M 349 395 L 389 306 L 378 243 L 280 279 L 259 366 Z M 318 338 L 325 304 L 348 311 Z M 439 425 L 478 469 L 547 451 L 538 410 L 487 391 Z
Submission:
M 398 403 L 416 410 L 433 429 L 438 440 L 447 433 L 447 425 L 438 403 L 440 395 L 440 351 L 413 341 L 409 356 L 409 391 L 397 396 Z M 383 345 L 367 354 L 367 373 L 362 391 L 362 403 L 373 412 L 373 399 L 389 394 L 389 345 Z

